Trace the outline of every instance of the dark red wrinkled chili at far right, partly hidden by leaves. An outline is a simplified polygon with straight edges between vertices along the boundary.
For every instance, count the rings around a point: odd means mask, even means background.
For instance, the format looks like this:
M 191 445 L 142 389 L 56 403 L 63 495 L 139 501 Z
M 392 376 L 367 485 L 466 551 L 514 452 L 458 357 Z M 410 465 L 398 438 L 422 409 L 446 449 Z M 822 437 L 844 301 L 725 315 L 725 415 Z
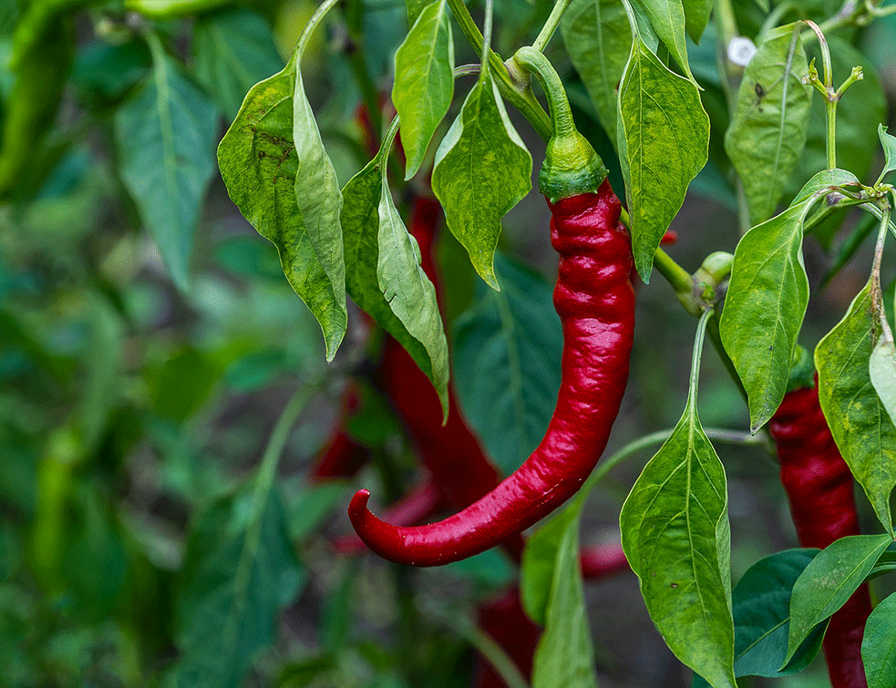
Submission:
M 852 474 L 821 412 L 817 385 L 818 378 L 815 387 L 788 392 L 768 429 L 778 447 L 781 482 L 799 544 L 824 549 L 836 539 L 861 531 Z M 870 613 L 866 583 L 830 619 L 823 647 L 833 688 L 868 685 L 861 641 Z

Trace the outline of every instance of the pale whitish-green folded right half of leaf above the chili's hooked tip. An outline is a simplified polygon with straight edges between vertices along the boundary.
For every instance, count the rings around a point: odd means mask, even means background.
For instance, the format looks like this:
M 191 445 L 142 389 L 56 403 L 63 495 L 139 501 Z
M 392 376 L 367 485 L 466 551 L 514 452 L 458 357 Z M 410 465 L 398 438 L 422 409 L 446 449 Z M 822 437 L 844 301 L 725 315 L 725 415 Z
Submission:
M 420 267 L 420 247 L 407 233 L 392 200 L 386 177 L 379 200 L 379 255 L 376 279 L 386 303 L 408 334 L 423 344 L 429 375 L 448 419 L 448 341 L 438 313 L 436 288 Z

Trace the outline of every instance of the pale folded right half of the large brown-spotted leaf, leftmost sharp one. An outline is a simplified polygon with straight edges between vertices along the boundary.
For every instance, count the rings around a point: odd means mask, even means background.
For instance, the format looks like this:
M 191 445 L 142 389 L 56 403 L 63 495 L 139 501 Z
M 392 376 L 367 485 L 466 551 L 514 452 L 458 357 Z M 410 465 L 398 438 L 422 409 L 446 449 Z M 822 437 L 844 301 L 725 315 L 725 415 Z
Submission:
M 299 60 L 303 44 L 296 49 L 293 90 L 293 141 L 298 158 L 295 173 L 295 198 L 318 264 L 330 281 L 331 290 L 342 313 L 345 311 L 345 258 L 343 256 L 342 192 L 333 162 L 324 150 L 320 129 L 308 98 L 305 97 L 302 69 Z M 345 334 L 345 327 L 342 328 Z M 339 341 L 342 341 L 340 334 Z M 326 360 L 332 361 L 339 342 L 326 348 Z

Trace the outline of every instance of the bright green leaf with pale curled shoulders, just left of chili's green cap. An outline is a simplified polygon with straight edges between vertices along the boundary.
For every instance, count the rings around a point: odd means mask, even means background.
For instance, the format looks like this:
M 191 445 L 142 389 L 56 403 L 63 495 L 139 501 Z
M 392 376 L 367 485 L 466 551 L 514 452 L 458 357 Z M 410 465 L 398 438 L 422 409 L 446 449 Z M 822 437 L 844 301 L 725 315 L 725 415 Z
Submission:
M 448 229 L 492 289 L 501 218 L 529 193 L 532 157 L 517 133 L 488 71 L 470 90 L 436 153 L 432 190 Z

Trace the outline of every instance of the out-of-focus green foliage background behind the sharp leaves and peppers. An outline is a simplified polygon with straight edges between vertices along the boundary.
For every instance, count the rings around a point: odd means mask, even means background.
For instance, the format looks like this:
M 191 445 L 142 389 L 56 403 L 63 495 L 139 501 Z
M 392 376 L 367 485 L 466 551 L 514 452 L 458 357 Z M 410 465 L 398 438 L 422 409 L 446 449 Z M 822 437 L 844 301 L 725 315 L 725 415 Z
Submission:
M 16 41 L 38 5 L 57 17 L 62 37 L 34 48 L 42 67 L 32 74 Z M 496 49 L 509 55 L 530 41 L 550 5 L 496 2 Z M 741 5 L 740 26 L 755 35 L 753 4 Z M 819 13 L 839 6 L 807 5 Z M 325 363 L 318 324 L 273 245 L 229 200 L 214 158 L 243 96 L 283 67 L 314 7 L 0 2 L 0 685 L 459 688 L 477 671 L 477 609 L 513 584 L 514 564 L 491 551 L 408 570 L 335 549 L 351 533 L 345 506 L 356 488 L 400 495 L 420 483 L 416 448 L 369 383 L 380 335 L 353 312 L 340 354 Z M 388 94 L 405 4 L 348 3 L 325 28 L 303 72 L 345 183 L 369 159 L 355 75 L 366 70 Z M 477 62 L 455 33 L 458 65 Z M 707 31 L 689 46 L 714 122 L 710 164 L 672 227 L 679 241 L 669 251 L 689 271 L 710 252 L 733 252 L 739 236 L 714 38 Z M 549 56 L 583 132 L 613 168 L 613 148 L 561 45 L 555 38 Z M 831 36 L 831 45 L 835 81 L 854 64 L 865 69 L 841 104 L 839 155 L 841 167 L 871 181 L 881 165 L 877 123 L 893 123 L 896 17 Z M 60 57 L 66 46 L 74 52 Z M 51 81 L 54 65 L 61 77 Z M 458 79 L 448 121 L 471 85 Z M 824 166 L 823 108 L 815 104 L 791 193 Z M 517 113 L 510 117 L 537 173 L 543 143 Z M 611 174 L 621 191 L 618 163 Z M 172 179 L 173 197 L 164 190 Z M 407 212 L 426 192 L 415 180 L 397 200 Z M 561 340 L 550 327 L 557 259 L 547 225 L 534 191 L 506 216 L 501 303 L 447 231 L 436 247 L 460 403 L 505 473 L 528 456 L 551 415 L 551 395 L 539 391 L 559 385 Z M 807 241 L 812 299 L 800 342 L 808 348 L 866 280 L 872 246 L 858 241 L 862 231 L 850 215 Z M 832 267 L 842 269 L 828 280 Z M 886 274 L 892 308 L 892 265 Z M 496 315 L 503 307 L 510 325 Z M 684 408 L 695 321 L 659 278 L 641 285 L 638 309 L 632 374 L 608 453 L 674 426 Z M 483 343 L 512 337 L 532 427 L 509 439 L 489 387 L 511 375 L 506 341 L 504 354 Z M 361 399 L 354 412 L 344 408 L 346 385 Z M 700 413 L 705 426 L 747 427 L 746 405 L 711 347 Z M 370 463 L 353 477 L 310 479 L 340 428 L 366 447 Z M 767 452 L 716 448 L 729 480 L 736 580 L 760 557 L 795 547 L 796 537 Z M 613 470 L 595 490 L 583 543 L 618 538 L 619 508 L 649 456 Z M 875 528 L 868 505 L 860 508 Z M 881 593 L 894 587 L 888 577 L 874 585 Z M 589 582 L 586 594 L 602 685 L 690 684 L 631 572 Z M 778 683 L 825 681 L 817 661 Z

